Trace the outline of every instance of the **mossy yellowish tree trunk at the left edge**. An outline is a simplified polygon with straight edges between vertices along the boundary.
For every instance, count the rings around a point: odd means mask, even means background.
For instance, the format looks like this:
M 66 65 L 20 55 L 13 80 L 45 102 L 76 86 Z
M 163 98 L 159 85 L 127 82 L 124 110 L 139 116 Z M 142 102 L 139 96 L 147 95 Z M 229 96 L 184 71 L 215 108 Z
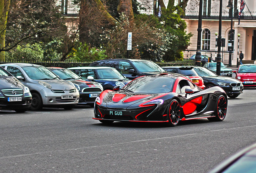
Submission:
M 5 52 L 2 51 L 2 48 L 5 47 L 5 33 L 9 6 L 10 0 L 0 0 L 0 60 L 5 60 Z

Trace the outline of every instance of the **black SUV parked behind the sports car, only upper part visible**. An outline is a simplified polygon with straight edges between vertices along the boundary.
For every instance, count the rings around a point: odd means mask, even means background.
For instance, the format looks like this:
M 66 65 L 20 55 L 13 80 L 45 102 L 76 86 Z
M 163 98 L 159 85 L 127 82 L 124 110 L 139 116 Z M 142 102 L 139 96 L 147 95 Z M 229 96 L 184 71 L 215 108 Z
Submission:
M 105 59 L 91 62 L 89 66 L 107 66 L 116 68 L 126 78 L 134 79 L 139 76 L 156 75 L 166 71 L 151 60 L 142 59 Z

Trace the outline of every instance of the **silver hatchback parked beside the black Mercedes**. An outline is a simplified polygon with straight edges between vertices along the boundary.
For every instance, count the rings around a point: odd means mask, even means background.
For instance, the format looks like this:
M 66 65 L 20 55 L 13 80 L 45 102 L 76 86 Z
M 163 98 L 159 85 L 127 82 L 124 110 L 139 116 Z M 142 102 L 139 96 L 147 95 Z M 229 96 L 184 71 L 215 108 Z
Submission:
M 44 66 L 27 63 L 0 64 L 29 87 L 32 94 L 31 110 L 43 107 L 72 109 L 79 101 L 79 92 L 70 81 L 65 81 Z

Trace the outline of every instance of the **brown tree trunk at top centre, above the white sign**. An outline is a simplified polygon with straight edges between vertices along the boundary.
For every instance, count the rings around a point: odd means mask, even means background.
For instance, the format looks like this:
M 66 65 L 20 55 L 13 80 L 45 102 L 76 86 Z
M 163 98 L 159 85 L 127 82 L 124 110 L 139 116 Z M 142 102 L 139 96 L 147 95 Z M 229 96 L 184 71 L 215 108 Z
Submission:
M 130 25 L 133 25 L 134 15 L 132 10 L 132 0 L 119 0 L 118 13 L 122 12 L 124 12 L 124 14 L 126 14 L 126 16 L 128 17 Z

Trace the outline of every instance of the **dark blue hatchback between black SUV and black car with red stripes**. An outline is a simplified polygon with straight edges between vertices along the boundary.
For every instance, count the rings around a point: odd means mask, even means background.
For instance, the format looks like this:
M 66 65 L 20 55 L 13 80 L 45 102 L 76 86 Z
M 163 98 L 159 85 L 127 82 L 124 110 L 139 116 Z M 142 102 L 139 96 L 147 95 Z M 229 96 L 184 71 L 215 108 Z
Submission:
M 82 79 L 99 82 L 104 90 L 113 90 L 116 86 L 122 88 L 131 81 L 112 67 L 72 67 L 68 69 L 81 76 Z

